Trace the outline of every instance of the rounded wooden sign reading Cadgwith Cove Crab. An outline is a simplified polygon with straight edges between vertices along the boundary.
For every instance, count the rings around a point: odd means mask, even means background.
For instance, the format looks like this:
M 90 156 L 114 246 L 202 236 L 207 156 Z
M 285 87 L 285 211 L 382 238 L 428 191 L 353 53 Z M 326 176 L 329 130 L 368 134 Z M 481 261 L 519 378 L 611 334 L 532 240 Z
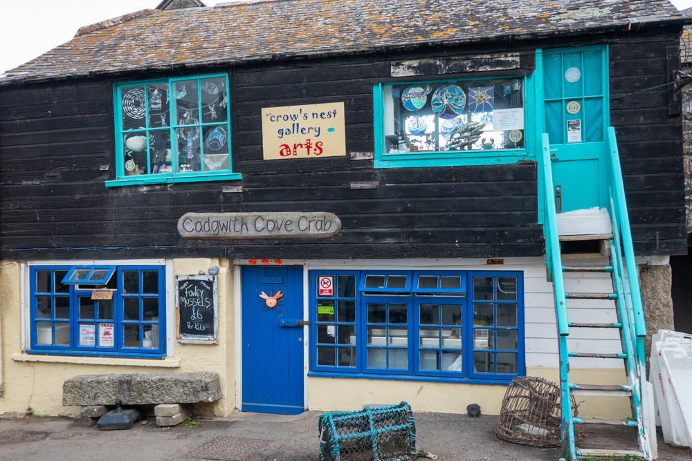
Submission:
M 178 220 L 183 238 L 320 238 L 341 230 L 333 213 L 186 213 Z

